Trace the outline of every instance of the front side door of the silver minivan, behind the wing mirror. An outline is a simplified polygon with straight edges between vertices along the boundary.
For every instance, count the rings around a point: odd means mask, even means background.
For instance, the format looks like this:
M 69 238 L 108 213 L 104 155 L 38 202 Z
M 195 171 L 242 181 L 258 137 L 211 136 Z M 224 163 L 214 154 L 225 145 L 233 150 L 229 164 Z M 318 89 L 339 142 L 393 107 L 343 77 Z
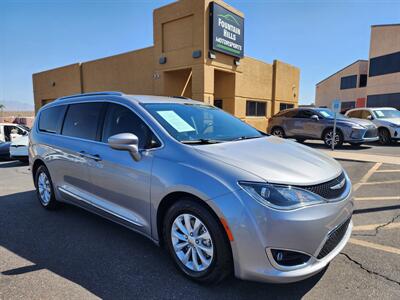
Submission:
M 112 149 L 107 140 L 118 133 L 133 133 L 139 138 L 142 158 L 135 161 L 128 151 Z M 96 206 L 133 224 L 147 234 L 150 231 L 150 179 L 154 135 L 148 126 L 125 106 L 109 103 L 101 141 L 96 147 L 99 160 L 91 168 L 92 193 Z

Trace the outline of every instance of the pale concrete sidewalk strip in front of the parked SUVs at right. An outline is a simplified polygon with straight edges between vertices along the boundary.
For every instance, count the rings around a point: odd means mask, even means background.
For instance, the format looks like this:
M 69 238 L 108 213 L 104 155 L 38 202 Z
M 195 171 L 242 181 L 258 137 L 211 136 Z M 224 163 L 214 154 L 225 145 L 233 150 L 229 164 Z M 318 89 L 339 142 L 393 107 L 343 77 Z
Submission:
M 380 163 L 384 163 L 384 164 L 400 165 L 400 148 L 399 148 L 399 154 L 396 156 L 363 154 L 360 152 L 341 151 L 341 150 L 335 150 L 335 151 L 327 150 L 327 149 L 326 150 L 320 149 L 320 150 L 336 159 L 364 161 L 364 162 L 380 162 Z

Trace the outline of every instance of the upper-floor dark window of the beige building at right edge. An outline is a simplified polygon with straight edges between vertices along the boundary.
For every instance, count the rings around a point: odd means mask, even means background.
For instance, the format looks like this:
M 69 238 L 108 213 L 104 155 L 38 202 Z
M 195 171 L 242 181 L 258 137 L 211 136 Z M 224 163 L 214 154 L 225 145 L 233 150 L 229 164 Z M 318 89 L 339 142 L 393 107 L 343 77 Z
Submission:
M 400 52 L 369 60 L 369 77 L 400 72 Z

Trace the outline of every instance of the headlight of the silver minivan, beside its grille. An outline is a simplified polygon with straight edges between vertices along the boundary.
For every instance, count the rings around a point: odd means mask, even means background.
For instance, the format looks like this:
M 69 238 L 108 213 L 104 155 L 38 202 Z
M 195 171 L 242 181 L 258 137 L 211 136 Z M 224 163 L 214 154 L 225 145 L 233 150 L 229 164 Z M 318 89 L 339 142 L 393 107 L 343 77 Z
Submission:
M 317 194 L 291 186 L 248 181 L 239 181 L 239 185 L 262 205 L 280 210 L 326 202 Z

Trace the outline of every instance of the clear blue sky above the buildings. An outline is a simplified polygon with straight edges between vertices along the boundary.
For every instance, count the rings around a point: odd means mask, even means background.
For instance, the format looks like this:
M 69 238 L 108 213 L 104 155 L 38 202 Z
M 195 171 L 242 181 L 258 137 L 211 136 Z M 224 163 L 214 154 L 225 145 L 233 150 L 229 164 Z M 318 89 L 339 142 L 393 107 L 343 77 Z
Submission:
M 33 107 L 33 73 L 153 45 L 152 11 L 171 2 L 0 0 L 0 103 Z M 368 59 L 371 25 L 400 23 L 400 0 L 226 2 L 245 14 L 245 56 L 300 68 L 301 104 Z

